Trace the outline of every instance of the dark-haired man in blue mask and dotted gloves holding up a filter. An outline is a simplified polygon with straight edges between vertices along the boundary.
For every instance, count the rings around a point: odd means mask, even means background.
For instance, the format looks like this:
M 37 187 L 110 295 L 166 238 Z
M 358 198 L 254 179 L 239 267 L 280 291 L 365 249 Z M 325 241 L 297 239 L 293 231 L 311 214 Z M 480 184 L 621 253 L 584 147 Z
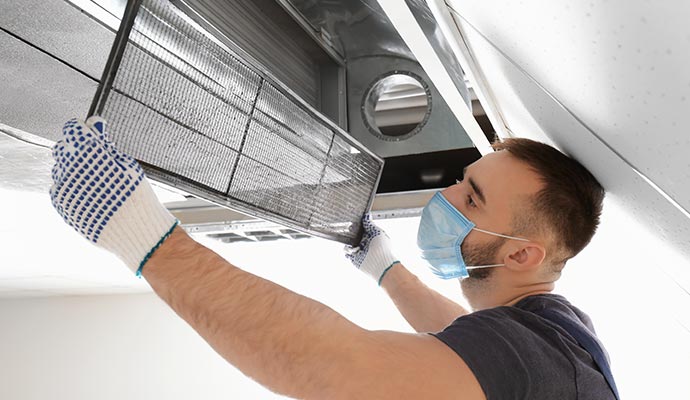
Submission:
M 368 221 L 362 243 L 348 255 L 418 334 L 362 329 L 196 243 L 158 203 L 139 164 L 109 142 L 98 118 L 65 125 L 53 152 L 51 198 L 68 224 L 144 276 L 219 354 L 278 393 L 614 398 L 596 355 L 578 343 L 588 338 L 558 321 L 565 315 L 591 328 L 586 316 L 549 294 L 565 261 L 594 234 L 603 190 L 548 146 L 515 140 L 497 149 L 434 196 L 418 237 L 439 276 L 465 278 L 463 293 L 477 311 L 423 285 Z M 548 314 L 554 310 L 556 317 Z

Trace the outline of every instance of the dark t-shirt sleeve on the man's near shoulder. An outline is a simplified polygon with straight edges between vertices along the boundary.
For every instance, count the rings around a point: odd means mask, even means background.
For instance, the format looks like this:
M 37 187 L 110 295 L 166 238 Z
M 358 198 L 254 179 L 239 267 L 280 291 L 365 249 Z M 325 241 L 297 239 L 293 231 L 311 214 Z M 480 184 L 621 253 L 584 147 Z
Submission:
M 558 349 L 561 339 L 536 316 L 524 314 L 510 307 L 479 311 L 432 335 L 465 361 L 488 400 L 566 398 L 559 396 L 575 393 L 575 387 L 552 384 L 574 386 L 572 363 Z

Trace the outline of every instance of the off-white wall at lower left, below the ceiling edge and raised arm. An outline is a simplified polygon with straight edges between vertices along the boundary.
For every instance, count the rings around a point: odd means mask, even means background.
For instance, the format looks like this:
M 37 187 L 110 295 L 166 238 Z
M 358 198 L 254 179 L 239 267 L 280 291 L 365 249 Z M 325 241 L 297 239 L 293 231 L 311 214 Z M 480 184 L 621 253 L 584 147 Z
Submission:
M 152 294 L 5 300 L 0 321 L 1 399 L 273 398 Z

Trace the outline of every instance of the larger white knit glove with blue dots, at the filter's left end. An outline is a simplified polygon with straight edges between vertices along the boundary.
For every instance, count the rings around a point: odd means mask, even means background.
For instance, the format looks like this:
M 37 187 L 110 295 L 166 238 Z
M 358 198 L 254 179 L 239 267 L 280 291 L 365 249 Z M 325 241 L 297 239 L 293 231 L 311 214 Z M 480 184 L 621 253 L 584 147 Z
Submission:
M 139 163 L 115 148 L 98 117 L 67 121 L 53 158 L 53 207 L 140 276 L 178 221 L 158 201 Z

